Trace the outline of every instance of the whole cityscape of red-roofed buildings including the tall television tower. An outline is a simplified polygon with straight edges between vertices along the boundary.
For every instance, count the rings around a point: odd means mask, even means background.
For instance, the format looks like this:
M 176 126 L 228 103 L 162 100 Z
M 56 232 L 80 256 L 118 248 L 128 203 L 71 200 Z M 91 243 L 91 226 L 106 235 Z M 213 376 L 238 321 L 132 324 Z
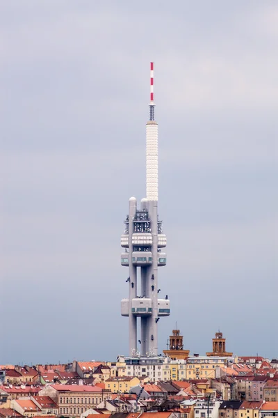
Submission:
M 128 318 L 123 332 L 128 355 L 116 355 L 110 361 L 2 364 L 1 418 L 278 416 L 277 359 L 227 351 L 220 330 L 213 336 L 211 352 L 190 353 L 177 325 L 163 355 L 159 354 L 159 320 L 170 315 L 170 299 L 168 295 L 161 297 L 158 281 L 158 267 L 167 264 L 167 238 L 158 217 L 158 123 L 154 107 L 151 62 L 146 196 L 140 204 L 133 196 L 129 199 L 120 240 L 120 263 L 128 267 L 129 274 L 129 297 L 121 302 L 121 315 Z

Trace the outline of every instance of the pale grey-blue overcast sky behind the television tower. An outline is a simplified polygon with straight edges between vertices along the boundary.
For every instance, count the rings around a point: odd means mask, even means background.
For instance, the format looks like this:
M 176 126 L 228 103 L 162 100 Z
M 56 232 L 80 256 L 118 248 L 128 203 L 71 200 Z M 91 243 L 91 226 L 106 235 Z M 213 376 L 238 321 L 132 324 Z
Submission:
M 159 352 L 278 356 L 278 3 L 1 0 L 0 364 L 128 353 L 120 235 L 155 63 Z M 276 239 L 276 244 L 275 244 Z M 275 247 L 276 245 L 276 247 Z

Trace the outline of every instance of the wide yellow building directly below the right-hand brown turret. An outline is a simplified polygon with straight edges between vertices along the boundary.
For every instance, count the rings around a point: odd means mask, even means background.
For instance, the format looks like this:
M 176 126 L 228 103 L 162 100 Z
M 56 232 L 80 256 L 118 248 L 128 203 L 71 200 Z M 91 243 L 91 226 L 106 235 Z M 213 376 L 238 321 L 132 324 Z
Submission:
M 234 357 L 199 356 L 186 359 L 186 379 L 213 379 L 216 366 L 227 365 L 234 361 Z

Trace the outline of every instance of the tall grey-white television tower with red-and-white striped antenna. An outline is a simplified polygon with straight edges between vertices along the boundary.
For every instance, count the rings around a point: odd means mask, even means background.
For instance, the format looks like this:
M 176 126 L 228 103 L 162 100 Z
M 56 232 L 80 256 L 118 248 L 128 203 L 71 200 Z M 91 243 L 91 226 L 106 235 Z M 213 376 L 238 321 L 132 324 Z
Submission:
M 151 63 L 149 121 L 146 125 L 146 198 L 138 206 L 129 199 L 129 214 L 121 237 L 121 264 L 129 268 L 129 299 L 123 299 L 122 316 L 129 318 L 129 355 L 158 355 L 158 320 L 170 315 L 168 296 L 161 299 L 158 267 L 166 265 L 166 235 L 158 219 L 158 124 L 154 121 L 154 63 Z M 137 278 L 140 269 L 140 291 Z M 159 296 L 159 299 L 158 299 Z M 140 335 L 137 321 L 140 318 Z M 139 347 L 140 345 L 140 347 Z

